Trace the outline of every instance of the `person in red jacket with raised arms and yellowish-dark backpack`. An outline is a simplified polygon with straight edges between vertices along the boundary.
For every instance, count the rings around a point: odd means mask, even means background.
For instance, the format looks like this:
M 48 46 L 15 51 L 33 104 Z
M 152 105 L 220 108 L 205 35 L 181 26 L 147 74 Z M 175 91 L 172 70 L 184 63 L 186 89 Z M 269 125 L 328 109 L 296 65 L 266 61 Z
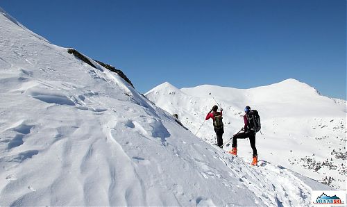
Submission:
M 222 115 L 223 115 L 223 108 L 221 108 L 221 112 L 217 112 L 218 106 L 213 106 L 208 115 L 206 115 L 205 120 L 208 120 L 210 118 L 213 119 L 213 127 L 214 132 L 217 135 L 217 145 L 218 147 L 223 146 L 223 122 L 222 122 Z

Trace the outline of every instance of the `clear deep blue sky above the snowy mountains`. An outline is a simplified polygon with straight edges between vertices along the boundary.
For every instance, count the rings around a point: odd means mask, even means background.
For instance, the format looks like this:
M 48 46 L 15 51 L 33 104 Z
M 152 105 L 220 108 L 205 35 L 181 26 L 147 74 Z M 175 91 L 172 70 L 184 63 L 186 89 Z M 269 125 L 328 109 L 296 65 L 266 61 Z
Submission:
M 296 78 L 346 99 L 345 0 L 0 0 L 53 44 L 124 71 L 139 92 L 169 81 L 253 88 Z

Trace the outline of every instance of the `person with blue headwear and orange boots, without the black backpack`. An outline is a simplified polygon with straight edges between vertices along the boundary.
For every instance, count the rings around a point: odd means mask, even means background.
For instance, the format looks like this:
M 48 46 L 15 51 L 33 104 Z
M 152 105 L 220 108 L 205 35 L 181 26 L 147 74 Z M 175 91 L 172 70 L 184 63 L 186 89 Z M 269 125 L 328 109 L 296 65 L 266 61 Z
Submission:
M 242 133 L 238 133 L 233 136 L 232 138 L 232 149 L 229 151 L 230 154 L 232 155 L 237 155 L 237 139 L 246 139 L 249 138 L 249 142 L 251 143 L 251 147 L 253 149 L 253 161 L 251 165 L 257 165 L 257 148 L 255 148 L 255 131 L 250 129 L 249 126 L 249 117 L 248 114 L 251 111 L 251 107 L 246 106 L 244 108 L 244 127 L 241 129 Z

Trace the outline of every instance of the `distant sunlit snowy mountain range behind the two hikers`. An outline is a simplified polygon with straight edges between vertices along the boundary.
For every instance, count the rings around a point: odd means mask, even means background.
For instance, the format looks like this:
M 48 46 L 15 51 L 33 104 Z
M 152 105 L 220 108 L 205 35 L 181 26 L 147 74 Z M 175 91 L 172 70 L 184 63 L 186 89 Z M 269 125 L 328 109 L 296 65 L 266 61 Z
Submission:
M 193 133 L 218 103 L 224 109 L 224 142 L 243 127 L 244 107 L 251 106 L 258 110 L 262 121 L 262 134 L 257 133 L 256 143 L 260 159 L 346 189 L 344 100 L 323 97 L 310 85 L 294 79 L 251 89 L 201 85 L 179 90 L 162 83 L 145 95 L 160 108 L 178 114 Z M 203 124 L 197 136 L 217 142 L 211 120 Z M 227 151 L 230 148 L 224 147 Z M 248 140 L 239 140 L 238 154 L 251 160 Z

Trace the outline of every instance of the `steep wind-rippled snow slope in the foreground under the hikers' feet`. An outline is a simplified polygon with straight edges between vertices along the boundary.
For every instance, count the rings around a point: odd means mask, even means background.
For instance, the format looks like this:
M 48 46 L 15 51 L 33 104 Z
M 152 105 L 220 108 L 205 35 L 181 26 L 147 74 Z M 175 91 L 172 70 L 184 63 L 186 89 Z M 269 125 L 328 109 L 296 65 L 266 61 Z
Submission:
M 309 206 L 326 188 L 211 146 L 16 22 L 1 9 L 0 206 Z

